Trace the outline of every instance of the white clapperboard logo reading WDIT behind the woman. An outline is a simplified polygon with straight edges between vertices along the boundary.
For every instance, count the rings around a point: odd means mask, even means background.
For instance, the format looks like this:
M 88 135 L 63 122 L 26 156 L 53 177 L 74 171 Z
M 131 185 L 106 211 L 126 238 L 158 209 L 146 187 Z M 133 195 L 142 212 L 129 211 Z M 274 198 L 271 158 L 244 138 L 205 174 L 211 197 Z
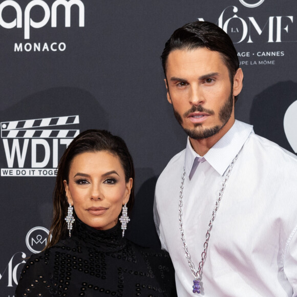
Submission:
M 1 122 L 7 168 L 1 176 L 56 176 L 59 152 L 63 152 L 79 130 L 51 129 L 79 124 L 79 116 Z

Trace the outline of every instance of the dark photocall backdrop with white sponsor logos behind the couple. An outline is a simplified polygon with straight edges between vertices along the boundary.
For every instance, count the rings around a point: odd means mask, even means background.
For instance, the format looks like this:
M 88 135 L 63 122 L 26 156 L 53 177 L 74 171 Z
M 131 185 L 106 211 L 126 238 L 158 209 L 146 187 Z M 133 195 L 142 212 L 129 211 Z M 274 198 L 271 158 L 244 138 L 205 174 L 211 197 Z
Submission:
M 14 295 L 26 258 L 45 246 L 58 160 L 87 129 L 126 141 L 136 168 L 126 235 L 159 245 L 155 183 L 186 145 L 160 55 L 175 29 L 197 19 L 223 28 L 239 52 L 236 118 L 296 154 L 296 1 L 1 0 L 1 297 Z

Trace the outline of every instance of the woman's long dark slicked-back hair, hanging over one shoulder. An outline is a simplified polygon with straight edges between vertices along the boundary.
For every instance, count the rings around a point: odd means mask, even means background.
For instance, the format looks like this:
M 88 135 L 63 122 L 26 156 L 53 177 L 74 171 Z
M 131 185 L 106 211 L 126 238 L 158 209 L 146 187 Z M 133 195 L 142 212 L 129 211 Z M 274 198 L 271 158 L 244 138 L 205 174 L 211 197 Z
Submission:
M 112 135 L 105 130 L 87 130 L 76 136 L 62 155 L 56 177 L 56 184 L 53 194 L 53 220 L 49 232 L 48 244 L 45 247 L 55 245 L 59 240 L 66 238 L 68 234 L 67 216 L 68 201 L 66 198 L 63 181 L 69 182 L 69 170 L 75 156 L 86 152 L 108 151 L 118 156 L 125 173 L 125 181 L 133 179 L 130 198 L 127 203 L 129 212 L 134 204 L 134 165 L 128 147 L 122 138 Z

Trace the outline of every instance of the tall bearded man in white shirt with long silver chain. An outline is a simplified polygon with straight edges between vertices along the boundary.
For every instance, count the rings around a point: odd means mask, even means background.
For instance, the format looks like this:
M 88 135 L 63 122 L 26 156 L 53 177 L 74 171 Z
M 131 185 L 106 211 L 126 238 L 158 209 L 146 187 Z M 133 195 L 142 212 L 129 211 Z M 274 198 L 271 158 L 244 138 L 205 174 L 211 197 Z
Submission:
M 235 120 L 243 73 L 231 39 L 194 22 L 161 58 L 167 100 L 188 135 L 154 206 L 178 295 L 297 296 L 297 158 Z

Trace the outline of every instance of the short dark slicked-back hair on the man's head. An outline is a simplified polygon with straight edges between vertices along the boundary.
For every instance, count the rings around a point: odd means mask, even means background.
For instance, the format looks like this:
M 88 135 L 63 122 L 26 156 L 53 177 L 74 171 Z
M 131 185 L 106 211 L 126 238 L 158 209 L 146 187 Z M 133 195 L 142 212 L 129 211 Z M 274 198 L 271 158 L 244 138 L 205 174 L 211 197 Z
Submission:
M 229 71 L 231 84 L 239 68 L 237 51 L 229 35 L 220 27 L 209 22 L 193 22 L 174 31 L 167 40 L 161 55 L 162 66 L 166 77 L 167 59 L 174 50 L 193 50 L 207 48 L 219 52 Z M 235 101 L 238 96 L 235 96 Z

